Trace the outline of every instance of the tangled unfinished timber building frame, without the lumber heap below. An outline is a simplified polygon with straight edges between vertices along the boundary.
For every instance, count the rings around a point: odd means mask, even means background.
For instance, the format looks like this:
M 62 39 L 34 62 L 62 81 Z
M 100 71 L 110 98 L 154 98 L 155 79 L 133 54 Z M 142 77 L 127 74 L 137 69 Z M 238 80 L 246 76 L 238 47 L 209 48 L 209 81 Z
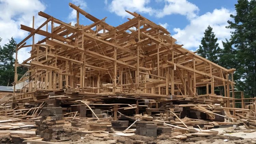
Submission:
M 188 51 L 176 44 L 165 28 L 135 12 L 126 11 L 134 18 L 113 27 L 105 18 L 98 19 L 72 3 L 69 5 L 77 11 L 75 26 L 44 12 L 38 14 L 46 21 L 37 29 L 34 18 L 32 28 L 21 25 L 30 34 L 17 44 L 13 101 L 38 99 L 39 91 L 66 89 L 71 93 L 80 91 L 81 97 L 196 99 L 204 104 L 221 103 L 230 107 L 233 115 L 238 100 L 245 109 L 243 92 L 241 99 L 234 97 L 235 69 L 228 70 Z M 81 25 L 80 16 L 92 24 Z M 35 34 L 45 38 L 34 42 Z M 31 37 L 32 45 L 26 45 Z M 31 56 L 18 63 L 18 51 L 24 47 L 32 47 Z M 30 68 L 20 80 L 19 66 Z M 214 92 L 220 86 L 224 87 L 222 96 Z M 210 88 L 200 94 L 200 87 Z

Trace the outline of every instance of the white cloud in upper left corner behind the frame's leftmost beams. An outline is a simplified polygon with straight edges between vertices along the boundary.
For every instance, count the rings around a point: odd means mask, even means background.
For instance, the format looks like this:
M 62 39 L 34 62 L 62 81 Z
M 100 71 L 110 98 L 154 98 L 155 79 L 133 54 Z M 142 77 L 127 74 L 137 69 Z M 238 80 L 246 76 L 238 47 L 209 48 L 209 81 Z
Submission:
M 39 0 L 0 0 L 0 45 L 9 42 L 9 39 L 24 39 L 29 34 L 20 29 L 20 24 L 32 27 L 32 17 L 35 16 L 35 28 L 39 27 L 46 19 L 38 16 L 39 11 L 44 11 L 45 5 Z M 38 36 L 35 37 L 37 39 Z M 29 44 L 31 41 L 27 41 Z M 19 43 L 19 41 L 17 41 Z M 27 59 L 31 49 L 22 48 L 18 54 L 19 62 Z

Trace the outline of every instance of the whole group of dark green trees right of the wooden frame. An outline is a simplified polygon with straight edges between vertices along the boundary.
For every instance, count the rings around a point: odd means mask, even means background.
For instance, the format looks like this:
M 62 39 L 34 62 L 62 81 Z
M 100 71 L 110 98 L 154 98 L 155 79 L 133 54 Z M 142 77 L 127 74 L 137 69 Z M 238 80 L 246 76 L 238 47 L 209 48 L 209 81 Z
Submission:
M 209 26 L 201 40 L 198 54 L 227 69 L 235 68 L 236 88 L 244 91 L 245 97 L 256 96 L 256 0 L 238 0 L 236 15 L 228 21 L 231 38 L 222 41 L 223 49 L 217 44 Z

